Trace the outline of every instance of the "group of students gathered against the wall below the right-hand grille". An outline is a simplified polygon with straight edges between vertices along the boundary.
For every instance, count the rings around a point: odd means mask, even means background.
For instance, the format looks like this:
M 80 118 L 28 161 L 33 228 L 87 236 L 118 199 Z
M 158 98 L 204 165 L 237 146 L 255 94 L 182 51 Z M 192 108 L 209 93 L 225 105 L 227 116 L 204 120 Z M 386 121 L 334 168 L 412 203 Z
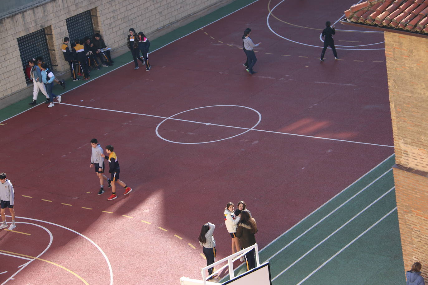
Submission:
M 107 46 L 99 33 L 95 33 L 92 36 L 92 40 L 89 37 L 75 39 L 71 43 L 71 49 L 68 48 L 69 41 L 70 38 L 65 37 L 61 49 L 65 61 L 70 65 L 73 81 L 80 80 L 77 75 L 83 76 L 83 80 L 90 79 L 89 72 L 91 68 L 100 70 L 100 65 L 103 67 L 113 65 L 110 50 L 105 50 Z

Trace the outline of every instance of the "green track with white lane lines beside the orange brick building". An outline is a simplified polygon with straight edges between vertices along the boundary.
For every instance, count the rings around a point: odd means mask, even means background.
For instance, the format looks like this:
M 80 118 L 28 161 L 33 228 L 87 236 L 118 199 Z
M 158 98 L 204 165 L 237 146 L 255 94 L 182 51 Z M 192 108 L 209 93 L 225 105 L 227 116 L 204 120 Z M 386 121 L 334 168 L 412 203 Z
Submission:
M 272 284 L 405 284 L 394 163 L 386 159 L 261 250 Z

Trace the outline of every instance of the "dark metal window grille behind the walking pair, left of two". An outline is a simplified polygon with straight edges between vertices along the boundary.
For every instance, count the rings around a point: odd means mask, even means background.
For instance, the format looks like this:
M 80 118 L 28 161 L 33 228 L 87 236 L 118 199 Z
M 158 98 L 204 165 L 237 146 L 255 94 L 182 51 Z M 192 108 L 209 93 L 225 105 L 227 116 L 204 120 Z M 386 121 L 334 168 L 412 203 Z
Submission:
M 36 57 L 42 56 L 43 62 L 45 62 L 48 67 L 52 67 L 51 55 L 49 54 L 45 29 L 39 29 L 36 32 L 24 35 L 21 38 L 17 38 L 17 41 L 26 81 L 30 81 L 30 78 L 28 78 L 27 74 L 25 73 L 25 68 L 28 65 L 29 59 L 35 59 Z

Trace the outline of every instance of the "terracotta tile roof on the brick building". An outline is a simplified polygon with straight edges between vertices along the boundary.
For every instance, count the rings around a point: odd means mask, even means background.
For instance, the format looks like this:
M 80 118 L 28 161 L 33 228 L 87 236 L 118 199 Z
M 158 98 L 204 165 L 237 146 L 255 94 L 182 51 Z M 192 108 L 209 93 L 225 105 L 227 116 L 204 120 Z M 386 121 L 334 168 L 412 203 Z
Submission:
M 345 11 L 349 22 L 428 35 L 428 0 L 367 0 Z

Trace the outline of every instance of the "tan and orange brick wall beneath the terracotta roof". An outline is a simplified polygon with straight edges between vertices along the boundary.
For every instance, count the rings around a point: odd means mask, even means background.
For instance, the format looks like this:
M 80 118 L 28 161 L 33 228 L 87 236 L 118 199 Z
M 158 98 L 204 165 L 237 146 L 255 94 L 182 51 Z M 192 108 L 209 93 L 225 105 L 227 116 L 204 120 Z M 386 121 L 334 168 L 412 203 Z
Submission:
M 428 38 L 384 32 L 395 161 L 428 172 Z M 428 278 L 428 178 L 394 168 L 404 268 Z

